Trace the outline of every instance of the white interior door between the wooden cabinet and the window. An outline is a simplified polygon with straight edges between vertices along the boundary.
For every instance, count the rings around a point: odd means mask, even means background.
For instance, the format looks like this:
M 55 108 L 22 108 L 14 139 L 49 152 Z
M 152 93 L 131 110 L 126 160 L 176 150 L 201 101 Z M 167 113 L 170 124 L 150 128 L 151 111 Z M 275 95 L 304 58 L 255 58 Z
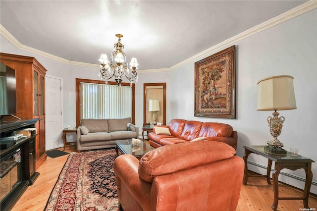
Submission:
M 61 139 L 61 79 L 45 78 L 45 148 L 52 150 L 63 146 Z

